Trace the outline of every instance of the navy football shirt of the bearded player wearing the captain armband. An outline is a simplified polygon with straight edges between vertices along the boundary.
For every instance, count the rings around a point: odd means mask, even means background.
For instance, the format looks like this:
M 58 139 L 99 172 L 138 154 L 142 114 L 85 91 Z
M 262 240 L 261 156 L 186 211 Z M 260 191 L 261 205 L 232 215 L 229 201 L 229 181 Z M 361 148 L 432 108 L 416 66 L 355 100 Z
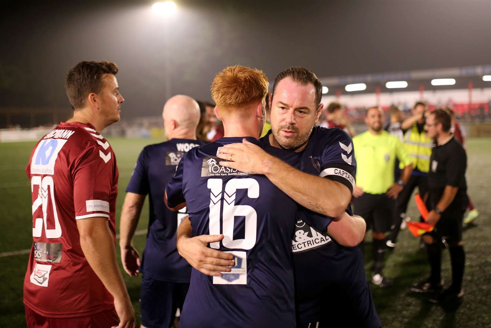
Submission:
M 353 192 L 355 149 L 352 138 L 345 131 L 314 127 L 301 155 L 301 171 L 340 182 Z M 351 206 L 347 212 L 352 215 Z M 329 326 L 334 324 L 330 320 L 334 314 L 348 325 L 352 322 L 355 325 L 371 323 L 375 326 L 370 327 L 379 327 L 380 319 L 366 280 L 363 254 L 358 247 L 338 244 L 328 235 L 328 230 L 321 234 L 308 223 L 298 222 L 292 236 L 299 322 L 321 321 L 323 327 Z M 336 309 L 337 305 L 340 307 Z M 346 306 L 352 306 L 351 311 L 341 316 Z

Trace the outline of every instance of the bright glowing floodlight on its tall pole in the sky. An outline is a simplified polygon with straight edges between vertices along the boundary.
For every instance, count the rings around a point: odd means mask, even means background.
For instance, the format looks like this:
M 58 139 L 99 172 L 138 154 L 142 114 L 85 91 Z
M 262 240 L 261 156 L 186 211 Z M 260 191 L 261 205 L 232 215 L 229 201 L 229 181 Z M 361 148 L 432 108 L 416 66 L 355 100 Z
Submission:
M 159 16 L 165 16 L 164 22 L 164 79 L 165 79 L 165 99 L 168 100 L 172 96 L 171 92 L 171 68 L 170 68 L 170 24 L 171 18 L 177 11 L 174 1 L 159 1 L 152 5 L 152 11 Z

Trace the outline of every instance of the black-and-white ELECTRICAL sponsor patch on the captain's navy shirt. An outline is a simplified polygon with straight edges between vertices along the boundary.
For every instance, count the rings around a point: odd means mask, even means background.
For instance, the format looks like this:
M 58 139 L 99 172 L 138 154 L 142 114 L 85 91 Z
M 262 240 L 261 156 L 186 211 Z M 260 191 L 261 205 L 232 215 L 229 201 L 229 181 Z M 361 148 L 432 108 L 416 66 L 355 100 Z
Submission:
M 332 239 L 298 219 L 292 236 L 292 252 L 301 253 L 329 244 Z

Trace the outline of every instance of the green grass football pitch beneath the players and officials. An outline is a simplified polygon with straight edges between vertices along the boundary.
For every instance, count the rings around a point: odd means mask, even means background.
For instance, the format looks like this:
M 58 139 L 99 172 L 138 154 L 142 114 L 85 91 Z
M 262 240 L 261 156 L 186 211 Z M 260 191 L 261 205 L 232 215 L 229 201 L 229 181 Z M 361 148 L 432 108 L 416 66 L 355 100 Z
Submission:
M 160 142 L 156 139 L 110 139 L 119 167 L 119 195 L 116 205 L 116 227 L 125 196 L 125 188 L 143 146 Z M 29 248 L 32 243 L 30 188 L 24 169 L 34 142 L 0 144 L 0 253 Z M 466 267 L 464 303 L 458 308 L 430 305 L 423 295 L 409 292 L 409 285 L 427 277 L 426 253 L 418 248 L 418 240 L 403 230 L 395 251 L 387 251 L 385 275 L 394 278 L 395 285 L 382 289 L 372 285 L 377 311 L 383 327 L 491 327 L 491 139 L 475 138 L 467 142 L 467 183 L 469 194 L 481 216 L 474 224 L 464 227 Z M 409 206 L 408 215 L 416 218 L 416 208 Z M 138 230 L 148 222 L 148 201 L 145 202 Z M 145 235 L 135 237 L 140 252 Z M 366 247 L 367 250 L 370 246 Z M 119 259 L 119 247 L 117 247 Z M 370 254 L 367 251 L 367 254 Z M 371 256 L 365 257 L 369 269 Z M 22 284 L 28 254 L 0 257 L 0 327 L 25 327 Z M 448 251 L 443 253 L 442 275 L 451 281 Z M 121 265 L 120 265 L 121 267 Z M 122 271 L 122 268 L 121 268 Z M 123 271 L 122 271 L 123 272 Z M 139 285 L 141 277 L 129 277 L 123 272 L 126 285 L 139 319 Z M 327 297 L 329 297 L 327 295 Z M 328 309 L 326 309 L 328 310 Z M 335 314 L 333 314 L 335 315 Z M 139 320 L 137 321 L 139 327 Z

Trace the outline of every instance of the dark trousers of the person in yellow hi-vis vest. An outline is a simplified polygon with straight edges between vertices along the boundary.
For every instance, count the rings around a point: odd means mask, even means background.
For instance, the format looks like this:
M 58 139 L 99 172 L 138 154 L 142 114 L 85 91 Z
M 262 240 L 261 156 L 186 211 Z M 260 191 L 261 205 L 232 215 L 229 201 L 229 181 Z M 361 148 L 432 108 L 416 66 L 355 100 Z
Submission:
M 411 175 L 408 183 L 399 193 L 399 196 L 397 197 L 397 209 L 392 223 L 393 228 L 388 237 L 388 240 L 392 241 L 392 243 L 397 242 L 397 235 L 399 235 L 399 231 L 401 230 L 401 214 L 406 213 L 408 210 L 408 204 L 411 199 L 412 192 L 414 189 L 416 189 L 416 187 L 418 187 L 421 198 L 424 199 L 426 193 L 428 192 L 428 176 Z

